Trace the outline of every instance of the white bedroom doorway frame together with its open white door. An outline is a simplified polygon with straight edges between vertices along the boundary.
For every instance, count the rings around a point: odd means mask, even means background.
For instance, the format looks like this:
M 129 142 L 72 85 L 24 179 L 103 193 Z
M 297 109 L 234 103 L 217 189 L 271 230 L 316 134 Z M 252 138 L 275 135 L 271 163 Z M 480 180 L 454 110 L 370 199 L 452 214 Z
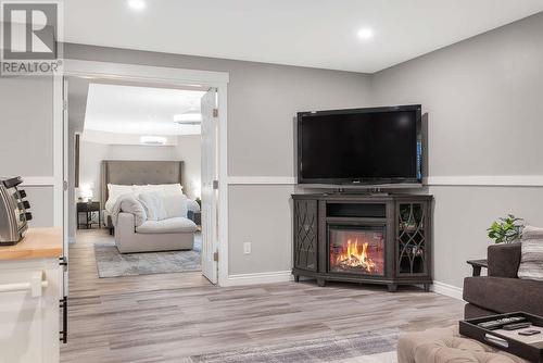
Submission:
M 100 62 L 66 61 L 65 77 L 84 77 L 87 79 L 110 79 L 116 83 L 146 83 L 160 87 L 195 87 L 206 89 L 202 100 L 202 273 L 213 284 L 220 284 L 227 278 L 227 190 L 226 190 L 226 91 L 228 74 L 200 72 L 126 64 L 109 64 Z M 59 87 L 62 92 L 59 92 Z M 63 140 L 64 140 L 64 180 L 70 182 L 68 114 L 66 107 L 70 85 L 66 79 L 55 80 L 55 96 L 63 105 Z M 56 113 L 55 113 L 56 114 Z M 79 140 L 80 142 L 80 140 Z M 74 196 L 64 193 L 64 237 L 65 255 L 68 256 L 70 213 L 68 203 Z M 72 198 L 71 198 L 72 197 Z M 220 242 L 219 242 L 220 241 Z M 222 253 L 225 251 L 224 253 Z M 218 255 L 224 254 L 224 259 Z M 219 260 L 219 261 L 217 261 Z M 74 261 L 75 263 L 76 261 Z M 67 276 L 65 280 L 67 281 Z M 67 284 L 65 284 L 67 295 Z

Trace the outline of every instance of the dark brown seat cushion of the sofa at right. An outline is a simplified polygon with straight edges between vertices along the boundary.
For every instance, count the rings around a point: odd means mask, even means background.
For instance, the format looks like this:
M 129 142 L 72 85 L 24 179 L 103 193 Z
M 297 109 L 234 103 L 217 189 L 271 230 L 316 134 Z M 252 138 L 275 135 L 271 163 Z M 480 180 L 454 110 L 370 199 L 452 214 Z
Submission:
M 505 277 L 466 277 L 464 300 L 498 313 L 525 311 L 543 315 L 543 283 Z

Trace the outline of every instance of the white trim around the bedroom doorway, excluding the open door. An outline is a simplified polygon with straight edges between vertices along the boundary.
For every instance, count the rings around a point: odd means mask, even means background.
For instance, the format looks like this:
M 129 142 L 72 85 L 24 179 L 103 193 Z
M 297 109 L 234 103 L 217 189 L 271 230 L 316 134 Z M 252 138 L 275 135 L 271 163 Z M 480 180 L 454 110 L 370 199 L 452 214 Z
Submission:
M 219 142 L 219 205 L 218 205 L 218 285 L 223 286 L 228 279 L 228 120 L 227 120 L 227 91 L 228 82 L 230 79 L 227 72 L 212 71 L 195 71 L 173 67 L 157 67 L 150 65 L 136 65 L 125 63 L 79 61 L 67 59 L 64 61 L 65 76 L 91 76 L 100 78 L 117 78 L 117 79 L 134 79 L 146 80 L 150 83 L 162 83 L 166 85 L 200 85 L 206 87 L 215 87 L 218 91 L 218 142 Z M 62 77 L 59 77 L 62 80 Z M 62 126 L 62 82 L 54 83 L 55 90 L 55 107 L 60 105 L 60 112 L 54 112 L 55 125 L 59 123 Z M 56 88 L 60 87 L 60 90 Z M 60 92 L 60 93 L 59 93 Z M 60 118 L 60 121 L 59 121 Z M 55 134 L 56 135 L 56 134 Z M 62 129 L 59 135 L 62 135 Z M 55 138 L 55 150 L 60 148 L 62 151 L 63 138 Z M 55 153 L 55 162 L 60 163 L 60 177 L 62 179 L 62 152 L 60 155 Z M 56 176 L 56 174 L 55 174 Z M 60 184 L 62 193 L 62 183 Z M 55 205 L 55 216 L 60 213 L 62 223 L 62 199 L 60 206 Z M 56 208 L 60 208 L 58 210 Z

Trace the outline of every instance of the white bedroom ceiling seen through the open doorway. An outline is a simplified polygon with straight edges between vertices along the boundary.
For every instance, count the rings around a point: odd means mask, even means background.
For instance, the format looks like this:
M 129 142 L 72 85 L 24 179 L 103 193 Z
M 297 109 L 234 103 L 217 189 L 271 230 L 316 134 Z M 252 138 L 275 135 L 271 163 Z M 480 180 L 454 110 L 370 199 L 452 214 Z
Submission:
M 200 125 L 179 125 L 176 114 L 198 114 L 202 90 L 90 83 L 85 132 L 130 135 L 199 135 Z

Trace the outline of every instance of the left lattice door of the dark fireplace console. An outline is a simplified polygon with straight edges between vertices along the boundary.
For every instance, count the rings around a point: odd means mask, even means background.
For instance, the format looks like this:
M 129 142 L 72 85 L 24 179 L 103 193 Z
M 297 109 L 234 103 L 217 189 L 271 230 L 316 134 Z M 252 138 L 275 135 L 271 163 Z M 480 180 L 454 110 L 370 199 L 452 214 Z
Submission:
M 317 201 L 294 200 L 294 267 L 317 271 Z

